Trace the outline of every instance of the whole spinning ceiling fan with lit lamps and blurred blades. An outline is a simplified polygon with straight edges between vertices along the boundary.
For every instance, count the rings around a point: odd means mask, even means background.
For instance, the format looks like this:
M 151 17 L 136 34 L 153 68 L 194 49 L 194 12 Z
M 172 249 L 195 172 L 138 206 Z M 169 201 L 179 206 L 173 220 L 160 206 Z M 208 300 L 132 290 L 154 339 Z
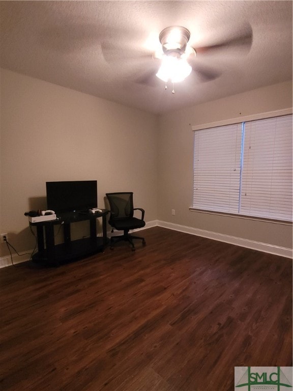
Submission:
M 152 57 L 150 57 L 149 53 L 147 55 L 143 54 L 142 56 L 139 54 L 138 57 L 145 61 L 150 59 L 160 60 L 161 65 L 159 66 L 153 61 L 152 65 L 150 65 L 150 70 L 145 71 L 135 81 L 143 85 L 153 86 L 154 76 L 157 76 L 165 82 L 166 89 L 167 82 L 170 81 L 173 84 L 182 81 L 191 72 L 195 72 L 200 81 L 213 80 L 219 77 L 221 72 L 211 69 L 206 65 L 200 65 L 200 61 L 197 61 L 197 56 L 200 58 L 200 56 L 205 54 L 215 54 L 219 51 L 228 53 L 229 50 L 234 50 L 239 55 L 239 49 L 240 52 L 247 53 L 251 48 L 253 40 L 252 27 L 249 23 L 239 28 L 232 37 L 219 40 L 208 46 L 191 46 L 189 44 L 190 36 L 189 30 L 183 26 L 168 26 L 163 29 L 159 34 L 160 50 L 153 52 Z M 109 61 L 112 61 L 112 58 L 107 55 L 107 51 L 111 50 L 111 48 L 113 48 L 111 45 L 102 46 L 104 58 L 109 58 Z M 116 51 L 116 48 L 114 50 Z M 130 60 L 128 54 L 124 53 L 124 55 Z M 147 66 L 149 66 L 149 63 L 145 62 L 145 67 Z M 172 93 L 174 93 L 174 88 Z

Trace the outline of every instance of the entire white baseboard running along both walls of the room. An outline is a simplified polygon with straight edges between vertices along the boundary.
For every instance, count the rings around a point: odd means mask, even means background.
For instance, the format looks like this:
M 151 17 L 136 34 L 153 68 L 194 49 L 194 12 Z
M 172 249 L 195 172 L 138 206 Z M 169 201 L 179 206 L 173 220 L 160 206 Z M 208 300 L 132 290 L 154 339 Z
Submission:
M 152 227 L 168 228 L 169 230 L 173 230 L 173 231 L 180 231 L 180 232 L 184 232 L 186 234 L 201 236 L 203 238 L 208 238 L 208 239 L 213 239 L 213 240 L 217 240 L 220 242 L 235 244 L 235 245 L 241 246 L 241 247 L 251 248 L 253 250 L 258 250 L 263 253 L 279 255 L 280 257 L 286 257 L 286 258 L 291 258 L 291 259 L 293 258 L 293 252 L 292 252 L 291 248 L 280 247 L 280 246 L 275 246 L 275 245 L 268 244 L 268 243 L 262 243 L 262 242 L 256 242 L 253 240 L 242 239 L 242 238 L 238 238 L 235 236 L 223 235 L 223 234 L 219 234 L 217 232 L 211 232 L 211 231 L 200 230 L 197 228 L 181 226 L 179 224 L 174 224 L 174 223 L 168 222 L 168 221 L 161 221 L 161 220 L 147 221 L 145 223 L 145 227 L 137 229 L 135 231 L 141 231 L 141 230 L 145 230 L 145 229 L 152 228 Z M 131 231 L 131 232 L 133 232 L 133 231 Z M 108 237 L 115 236 L 115 235 L 121 235 L 121 231 L 114 231 L 113 233 L 111 233 L 109 231 L 109 232 L 107 232 L 107 235 L 108 235 Z M 102 234 L 100 233 L 98 236 L 102 236 Z M 17 264 L 17 263 L 26 262 L 26 261 L 30 260 L 29 253 L 32 253 L 32 252 L 33 252 L 33 250 L 31 250 L 31 252 L 26 251 L 25 253 L 20 253 L 20 256 L 18 256 L 16 254 L 12 254 L 13 263 Z M 12 262 L 11 262 L 10 256 L 0 257 L 0 268 L 11 266 L 11 265 L 12 265 Z

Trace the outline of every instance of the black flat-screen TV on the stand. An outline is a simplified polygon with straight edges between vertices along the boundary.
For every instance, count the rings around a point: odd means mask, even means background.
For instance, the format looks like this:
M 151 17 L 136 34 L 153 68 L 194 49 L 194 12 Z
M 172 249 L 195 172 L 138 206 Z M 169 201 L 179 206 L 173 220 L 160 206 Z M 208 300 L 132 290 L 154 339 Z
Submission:
M 46 182 L 47 209 L 82 211 L 98 207 L 97 181 Z

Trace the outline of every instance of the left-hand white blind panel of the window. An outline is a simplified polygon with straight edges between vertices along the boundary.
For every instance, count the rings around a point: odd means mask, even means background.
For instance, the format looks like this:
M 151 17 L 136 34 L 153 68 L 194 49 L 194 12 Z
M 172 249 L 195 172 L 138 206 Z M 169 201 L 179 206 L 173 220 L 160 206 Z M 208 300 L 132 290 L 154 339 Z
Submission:
M 194 208 L 238 213 L 241 128 L 236 124 L 195 132 Z

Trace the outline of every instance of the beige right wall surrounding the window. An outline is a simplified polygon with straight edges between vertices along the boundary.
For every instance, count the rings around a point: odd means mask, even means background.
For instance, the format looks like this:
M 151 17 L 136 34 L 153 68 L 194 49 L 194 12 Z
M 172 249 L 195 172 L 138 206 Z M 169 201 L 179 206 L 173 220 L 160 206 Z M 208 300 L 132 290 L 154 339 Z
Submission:
M 283 82 L 162 115 L 159 123 L 158 219 L 292 248 L 292 228 L 288 225 L 189 210 L 193 196 L 191 126 L 291 106 L 292 83 Z M 175 209 L 175 216 L 171 215 L 171 209 Z

